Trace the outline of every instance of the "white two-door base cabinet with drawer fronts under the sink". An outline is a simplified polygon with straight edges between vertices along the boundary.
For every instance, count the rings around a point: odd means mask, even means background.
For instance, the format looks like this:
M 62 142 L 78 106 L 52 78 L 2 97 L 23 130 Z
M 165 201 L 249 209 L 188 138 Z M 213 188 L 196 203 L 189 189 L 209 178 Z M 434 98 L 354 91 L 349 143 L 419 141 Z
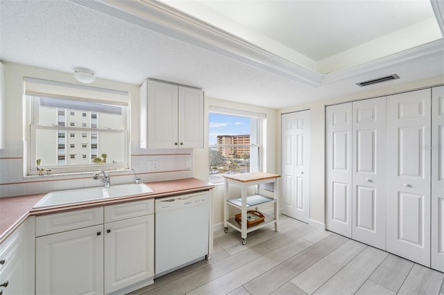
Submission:
M 35 294 L 124 294 L 153 283 L 153 202 L 37 217 Z M 86 227 L 66 229 L 85 217 Z

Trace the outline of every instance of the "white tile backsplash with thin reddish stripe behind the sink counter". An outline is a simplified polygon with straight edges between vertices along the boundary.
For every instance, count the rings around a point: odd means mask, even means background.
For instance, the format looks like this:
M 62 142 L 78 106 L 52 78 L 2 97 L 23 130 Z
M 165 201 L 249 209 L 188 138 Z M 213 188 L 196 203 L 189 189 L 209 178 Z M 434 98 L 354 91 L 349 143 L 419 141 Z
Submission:
M 6 141 L 0 150 L 0 197 L 48 193 L 52 190 L 102 186 L 92 179 L 92 173 L 73 175 L 43 175 L 24 177 L 22 141 Z M 192 177 L 192 149 L 146 150 L 139 142 L 131 143 L 130 168 L 144 182 Z M 135 181 L 132 172 L 110 172 L 111 184 L 128 184 Z

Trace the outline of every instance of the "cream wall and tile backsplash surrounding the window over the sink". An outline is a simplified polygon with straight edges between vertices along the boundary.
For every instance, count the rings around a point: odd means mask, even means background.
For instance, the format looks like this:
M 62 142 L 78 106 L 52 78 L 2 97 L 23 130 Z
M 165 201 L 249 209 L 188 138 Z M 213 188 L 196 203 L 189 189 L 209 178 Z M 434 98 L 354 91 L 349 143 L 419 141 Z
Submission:
M 101 186 L 100 181 L 92 179 L 91 174 L 76 175 L 44 175 L 24 177 L 26 165 L 26 144 L 23 138 L 26 127 L 23 79 L 24 77 L 41 78 L 80 84 L 74 79 L 72 73 L 62 73 L 50 69 L 40 69 L 33 66 L 4 62 L 6 71 L 6 116 L 5 116 L 5 149 L 0 150 L 0 197 L 14 195 L 31 195 L 47 193 L 51 190 L 66 190 L 71 188 L 84 188 Z M 171 150 L 146 150 L 139 148 L 139 85 L 126 84 L 110 80 L 97 79 L 90 84 L 94 87 L 103 87 L 128 91 L 130 93 L 131 114 L 131 168 L 137 172 L 142 181 L 159 181 L 167 179 L 180 179 L 192 177 L 193 172 L 187 168 L 186 162 L 193 157 L 193 150 L 183 149 L 179 152 Z M 149 161 L 157 161 L 159 169 L 150 171 Z M 206 170 L 206 169 L 205 169 Z M 112 184 L 125 184 L 133 182 L 134 175 L 128 171 L 111 173 Z

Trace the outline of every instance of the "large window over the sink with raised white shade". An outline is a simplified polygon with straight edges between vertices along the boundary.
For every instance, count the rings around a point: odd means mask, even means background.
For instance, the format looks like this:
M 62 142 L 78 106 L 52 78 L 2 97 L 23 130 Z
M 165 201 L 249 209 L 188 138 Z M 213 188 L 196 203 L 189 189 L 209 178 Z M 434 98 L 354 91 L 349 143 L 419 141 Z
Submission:
M 128 169 L 128 92 L 37 78 L 25 78 L 24 83 L 29 126 L 26 175 L 38 174 L 37 160 L 51 169 L 51 175 Z M 67 121 L 67 114 L 73 113 Z M 80 114 L 83 119 L 76 119 Z M 86 120 L 96 123 L 94 130 Z M 92 137 L 92 142 L 85 140 Z M 74 149 L 80 146 L 94 150 L 76 156 Z

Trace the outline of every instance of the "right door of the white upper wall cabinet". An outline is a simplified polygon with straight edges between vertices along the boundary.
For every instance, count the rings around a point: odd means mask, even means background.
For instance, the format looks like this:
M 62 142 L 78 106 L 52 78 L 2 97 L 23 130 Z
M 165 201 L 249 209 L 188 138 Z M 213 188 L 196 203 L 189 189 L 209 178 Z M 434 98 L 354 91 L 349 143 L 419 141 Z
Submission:
M 203 147 L 203 91 L 179 86 L 179 147 Z

